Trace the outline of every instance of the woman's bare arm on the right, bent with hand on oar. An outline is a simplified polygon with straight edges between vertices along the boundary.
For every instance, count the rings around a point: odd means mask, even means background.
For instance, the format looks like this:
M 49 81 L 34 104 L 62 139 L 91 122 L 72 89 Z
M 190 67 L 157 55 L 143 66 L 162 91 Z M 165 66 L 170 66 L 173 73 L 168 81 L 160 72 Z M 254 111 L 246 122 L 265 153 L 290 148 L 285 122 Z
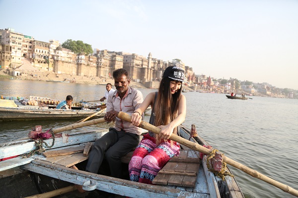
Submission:
M 168 140 L 173 133 L 175 127 L 182 124 L 186 116 L 186 99 L 185 96 L 180 96 L 179 106 L 178 106 L 178 115 L 177 117 L 165 126 L 158 126 L 161 129 L 159 137 L 164 140 Z

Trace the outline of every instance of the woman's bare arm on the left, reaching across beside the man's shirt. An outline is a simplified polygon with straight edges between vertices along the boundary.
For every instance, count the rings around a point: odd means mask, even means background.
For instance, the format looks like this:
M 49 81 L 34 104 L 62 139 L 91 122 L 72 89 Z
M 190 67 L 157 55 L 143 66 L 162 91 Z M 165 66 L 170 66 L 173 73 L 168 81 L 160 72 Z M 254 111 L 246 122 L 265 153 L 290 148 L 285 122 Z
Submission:
M 137 108 L 134 113 L 132 113 L 131 121 L 132 124 L 135 126 L 139 126 L 139 124 L 142 121 L 142 114 L 144 111 L 149 107 L 149 105 L 152 105 L 154 102 L 155 92 L 152 92 L 147 95 L 147 97 L 144 99 L 142 104 Z

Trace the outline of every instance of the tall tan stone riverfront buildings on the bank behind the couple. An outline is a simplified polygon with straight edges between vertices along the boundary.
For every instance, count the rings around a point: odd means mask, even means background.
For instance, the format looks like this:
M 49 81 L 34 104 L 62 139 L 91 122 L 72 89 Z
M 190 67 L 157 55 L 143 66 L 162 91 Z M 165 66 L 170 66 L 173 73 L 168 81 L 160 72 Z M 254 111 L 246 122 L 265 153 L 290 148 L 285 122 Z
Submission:
M 62 48 L 57 40 L 38 41 L 14 32 L 12 28 L 0 30 L 0 40 L 1 67 L 19 72 L 24 68 L 21 67 L 23 61 L 36 72 L 99 78 L 112 78 L 115 69 L 124 68 L 133 81 L 146 84 L 160 81 L 166 67 L 178 66 L 186 70 L 185 80 L 194 81 L 192 68 L 185 66 L 181 60 L 163 61 L 153 58 L 151 53 L 145 57 L 136 53 L 94 49 L 91 55 L 75 54 Z M 148 86 L 154 87 L 153 84 Z

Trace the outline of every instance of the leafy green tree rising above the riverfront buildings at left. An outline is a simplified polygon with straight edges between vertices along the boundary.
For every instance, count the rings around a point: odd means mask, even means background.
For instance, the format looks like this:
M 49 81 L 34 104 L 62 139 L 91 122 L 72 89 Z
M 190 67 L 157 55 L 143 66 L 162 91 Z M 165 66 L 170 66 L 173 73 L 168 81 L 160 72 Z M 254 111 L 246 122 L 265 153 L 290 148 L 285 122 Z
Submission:
M 73 41 L 71 39 L 68 39 L 66 42 L 62 44 L 63 48 L 70 49 L 74 51 L 76 54 L 85 54 L 89 55 L 93 52 L 91 45 L 85 44 L 82 41 Z

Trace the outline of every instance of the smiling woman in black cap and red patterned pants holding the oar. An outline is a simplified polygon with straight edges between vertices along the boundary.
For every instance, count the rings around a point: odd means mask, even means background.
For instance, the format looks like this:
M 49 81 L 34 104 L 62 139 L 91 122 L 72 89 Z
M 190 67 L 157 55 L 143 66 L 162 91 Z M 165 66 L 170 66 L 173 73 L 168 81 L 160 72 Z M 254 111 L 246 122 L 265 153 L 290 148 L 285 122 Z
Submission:
M 151 105 L 149 123 L 161 129 L 159 135 L 149 131 L 134 151 L 129 163 L 130 180 L 152 184 L 159 170 L 173 156 L 178 156 L 179 144 L 168 140 L 185 120 L 186 99 L 181 95 L 184 70 L 170 66 L 163 73 L 159 90 L 150 93 L 132 114 L 132 124 L 139 126 L 142 113 Z

